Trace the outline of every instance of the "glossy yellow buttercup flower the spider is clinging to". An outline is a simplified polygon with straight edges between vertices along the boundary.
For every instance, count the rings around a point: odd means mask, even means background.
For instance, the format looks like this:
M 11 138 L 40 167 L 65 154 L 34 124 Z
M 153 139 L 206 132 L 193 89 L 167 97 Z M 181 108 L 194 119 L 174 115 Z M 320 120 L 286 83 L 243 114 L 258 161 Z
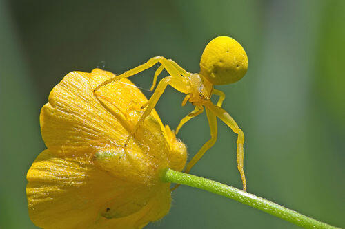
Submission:
M 147 99 L 126 78 L 93 93 L 114 76 L 71 72 L 41 109 L 48 149 L 26 187 L 30 218 L 41 228 L 142 228 L 170 208 L 170 184 L 159 173 L 181 171 L 186 146 L 152 111 L 124 147 Z

